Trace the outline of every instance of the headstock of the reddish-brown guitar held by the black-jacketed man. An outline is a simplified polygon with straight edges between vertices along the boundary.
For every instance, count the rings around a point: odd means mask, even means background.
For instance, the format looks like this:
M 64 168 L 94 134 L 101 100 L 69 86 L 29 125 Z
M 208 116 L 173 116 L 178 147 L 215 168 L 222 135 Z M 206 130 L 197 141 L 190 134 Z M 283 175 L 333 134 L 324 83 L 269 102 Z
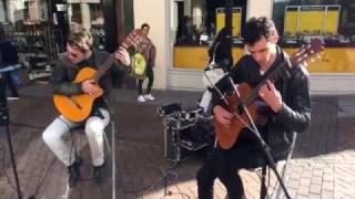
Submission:
M 292 65 L 306 63 L 310 59 L 313 59 L 324 50 L 323 42 L 321 39 L 312 39 L 311 42 L 297 50 L 296 53 L 292 54 L 290 62 Z

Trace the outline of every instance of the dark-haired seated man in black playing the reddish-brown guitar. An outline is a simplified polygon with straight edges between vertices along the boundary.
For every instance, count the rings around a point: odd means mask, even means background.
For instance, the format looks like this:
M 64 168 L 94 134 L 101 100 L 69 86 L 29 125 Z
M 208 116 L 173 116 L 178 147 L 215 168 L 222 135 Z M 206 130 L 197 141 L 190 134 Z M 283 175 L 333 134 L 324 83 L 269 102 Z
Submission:
M 272 20 L 252 18 L 245 23 L 244 44 L 248 51 L 233 67 L 231 76 L 235 84 L 258 84 L 287 57 L 276 44 L 277 31 Z M 229 86 L 231 87 L 231 86 Z M 225 91 L 224 91 L 225 92 Z M 264 140 L 271 147 L 273 158 L 284 159 L 292 143 L 292 133 L 306 129 L 311 121 L 310 77 L 302 66 L 294 66 L 288 77 L 275 83 L 266 81 L 258 90 L 258 98 L 268 107 L 267 122 L 257 125 Z M 223 125 L 231 124 L 233 115 L 214 94 L 213 114 Z M 213 198 L 213 182 L 219 178 L 226 187 L 229 198 L 245 198 L 243 184 L 237 171 L 241 168 L 256 168 L 265 165 L 265 156 L 255 135 L 243 128 L 240 137 L 230 149 L 217 145 L 196 175 L 200 199 Z

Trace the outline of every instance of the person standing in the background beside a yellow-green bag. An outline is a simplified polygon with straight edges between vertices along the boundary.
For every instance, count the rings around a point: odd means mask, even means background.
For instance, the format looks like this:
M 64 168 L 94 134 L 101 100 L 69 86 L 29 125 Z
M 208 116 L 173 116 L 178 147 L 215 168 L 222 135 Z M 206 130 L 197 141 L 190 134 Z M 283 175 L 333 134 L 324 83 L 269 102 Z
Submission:
M 153 82 L 154 82 L 154 72 L 153 67 L 155 66 L 155 55 L 156 50 L 153 42 L 148 38 L 150 25 L 148 23 L 142 24 L 141 27 L 142 33 L 144 36 L 144 42 L 141 44 L 140 48 L 142 48 L 142 54 L 146 62 L 146 77 L 148 77 L 148 85 L 145 94 L 143 95 L 143 81 L 144 80 L 138 80 L 138 102 L 145 102 L 145 101 L 154 101 L 155 97 L 151 94 Z

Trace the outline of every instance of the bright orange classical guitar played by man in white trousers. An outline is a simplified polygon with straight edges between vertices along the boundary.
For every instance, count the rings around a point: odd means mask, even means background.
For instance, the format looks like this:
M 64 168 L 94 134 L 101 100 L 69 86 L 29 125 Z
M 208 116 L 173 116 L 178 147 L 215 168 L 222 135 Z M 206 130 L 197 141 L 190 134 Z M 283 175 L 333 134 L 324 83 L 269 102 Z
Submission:
M 131 32 L 123 43 L 122 48 L 128 49 L 132 45 L 136 45 L 142 41 L 141 30 L 134 30 Z M 115 52 L 118 52 L 116 50 Z M 112 64 L 116 61 L 114 53 L 110 55 L 110 57 L 99 67 L 99 70 L 94 70 L 92 67 L 83 67 L 79 71 L 75 76 L 73 83 L 81 83 L 85 80 L 93 80 L 98 82 L 104 75 L 104 73 L 112 66 Z M 54 106 L 65 118 L 72 122 L 82 122 L 87 119 L 91 113 L 92 105 L 95 98 L 100 97 L 103 94 L 103 91 L 100 88 L 98 95 L 89 95 L 89 94 L 79 94 L 79 95 L 54 95 Z

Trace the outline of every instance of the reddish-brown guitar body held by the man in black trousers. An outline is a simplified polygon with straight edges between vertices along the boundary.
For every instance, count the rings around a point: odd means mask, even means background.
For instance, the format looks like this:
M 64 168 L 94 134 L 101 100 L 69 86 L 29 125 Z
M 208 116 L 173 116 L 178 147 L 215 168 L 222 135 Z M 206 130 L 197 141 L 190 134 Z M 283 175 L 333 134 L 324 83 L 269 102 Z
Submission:
M 237 111 L 235 112 L 235 108 L 237 108 L 241 100 L 248 95 L 248 93 L 251 92 L 251 87 L 246 83 L 243 83 L 237 86 L 237 91 L 241 94 L 241 97 L 239 97 L 237 94 L 233 94 L 227 98 L 230 103 L 230 105 L 227 106 L 227 111 L 235 114 L 239 114 Z M 250 104 L 246 108 L 248 109 L 253 121 L 255 121 L 255 118 L 257 117 L 257 107 L 254 104 Z M 243 112 L 242 114 L 239 114 L 239 116 L 243 118 L 246 124 L 250 124 L 250 119 L 246 113 Z M 242 128 L 246 127 L 240 122 L 236 116 L 233 117 L 230 125 L 221 124 L 214 117 L 214 126 L 217 142 L 223 149 L 230 149 L 241 135 Z

